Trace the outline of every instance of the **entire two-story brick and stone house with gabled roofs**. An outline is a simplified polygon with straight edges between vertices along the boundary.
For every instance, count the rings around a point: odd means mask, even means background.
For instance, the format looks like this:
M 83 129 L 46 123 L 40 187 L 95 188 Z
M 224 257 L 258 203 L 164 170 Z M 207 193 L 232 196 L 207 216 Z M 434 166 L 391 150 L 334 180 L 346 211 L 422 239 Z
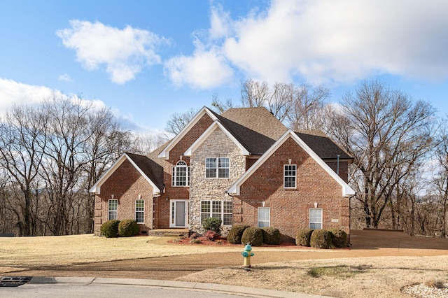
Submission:
M 320 132 L 293 132 L 265 108 L 209 108 L 148 156 L 124 153 L 92 187 L 95 234 L 134 218 L 141 233 L 218 217 L 232 225 L 337 227 L 349 234 L 351 157 Z

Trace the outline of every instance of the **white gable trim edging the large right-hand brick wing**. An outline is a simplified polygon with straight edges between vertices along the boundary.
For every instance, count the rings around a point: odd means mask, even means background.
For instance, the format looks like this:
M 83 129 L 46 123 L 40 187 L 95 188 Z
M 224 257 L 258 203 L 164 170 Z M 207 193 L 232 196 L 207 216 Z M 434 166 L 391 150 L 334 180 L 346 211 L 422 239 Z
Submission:
M 319 166 L 321 166 L 333 179 L 336 180 L 339 185 L 342 187 L 342 196 L 343 197 L 351 197 L 355 194 L 355 191 L 347 184 L 345 183 L 342 178 L 340 178 L 335 171 L 333 171 L 328 164 L 326 164 L 321 157 L 318 157 L 316 152 L 311 150 L 307 144 L 300 139 L 300 137 L 295 134 L 292 130 L 288 130 L 281 138 L 274 143 L 274 145 L 269 148 L 265 152 L 264 155 L 262 155 L 230 188 L 228 189 L 229 194 L 239 194 L 239 187 L 253 174 L 255 171 L 260 168 L 260 166 L 267 161 L 267 159 L 278 149 L 283 145 L 283 143 L 286 142 L 289 138 L 293 139 L 302 149 L 308 153 L 311 158 L 313 158 Z

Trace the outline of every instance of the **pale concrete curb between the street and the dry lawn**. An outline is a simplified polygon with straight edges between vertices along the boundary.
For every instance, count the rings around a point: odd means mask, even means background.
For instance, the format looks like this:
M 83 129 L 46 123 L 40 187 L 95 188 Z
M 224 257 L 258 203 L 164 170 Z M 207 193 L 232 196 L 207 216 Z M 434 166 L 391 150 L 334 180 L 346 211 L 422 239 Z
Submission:
M 94 278 L 94 277 L 33 277 L 26 285 L 139 285 L 158 288 L 180 288 L 222 292 L 235 295 L 251 295 L 252 297 L 278 298 L 332 298 L 321 295 L 309 295 L 296 292 L 276 291 L 259 288 L 241 287 L 239 285 L 219 285 L 216 283 L 193 283 L 188 281 L 158 281 L 153 279 L 133 278 Z M 25 286 L 26 286 L 25 285 Z

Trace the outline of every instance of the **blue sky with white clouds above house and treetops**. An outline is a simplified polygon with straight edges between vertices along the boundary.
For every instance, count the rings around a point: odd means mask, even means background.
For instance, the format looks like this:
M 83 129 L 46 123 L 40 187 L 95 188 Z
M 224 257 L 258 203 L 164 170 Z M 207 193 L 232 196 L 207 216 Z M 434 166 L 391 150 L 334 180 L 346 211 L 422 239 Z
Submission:
M 448 113 L 445 0 L 0 0 L 0 112 L 52 92 L 110 107 L 129 129 L 239 103 L 241 80 L 362 80 Z

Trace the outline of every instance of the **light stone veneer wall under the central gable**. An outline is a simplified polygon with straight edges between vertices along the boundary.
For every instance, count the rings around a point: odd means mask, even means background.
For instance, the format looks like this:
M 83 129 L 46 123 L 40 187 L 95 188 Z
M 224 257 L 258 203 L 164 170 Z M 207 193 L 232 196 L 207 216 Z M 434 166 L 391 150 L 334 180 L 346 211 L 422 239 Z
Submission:
M 229 178 L 205 178 L 206 157 L 229 157 Z M 201 225 L 201 201 L 232 201 L 226 190 L 244 173 L 246 157 L 219 128 L 205 140 L 190 159 L 190 229 L 204 232 Z M 223 227 L 223 234 L 231 226 Z

